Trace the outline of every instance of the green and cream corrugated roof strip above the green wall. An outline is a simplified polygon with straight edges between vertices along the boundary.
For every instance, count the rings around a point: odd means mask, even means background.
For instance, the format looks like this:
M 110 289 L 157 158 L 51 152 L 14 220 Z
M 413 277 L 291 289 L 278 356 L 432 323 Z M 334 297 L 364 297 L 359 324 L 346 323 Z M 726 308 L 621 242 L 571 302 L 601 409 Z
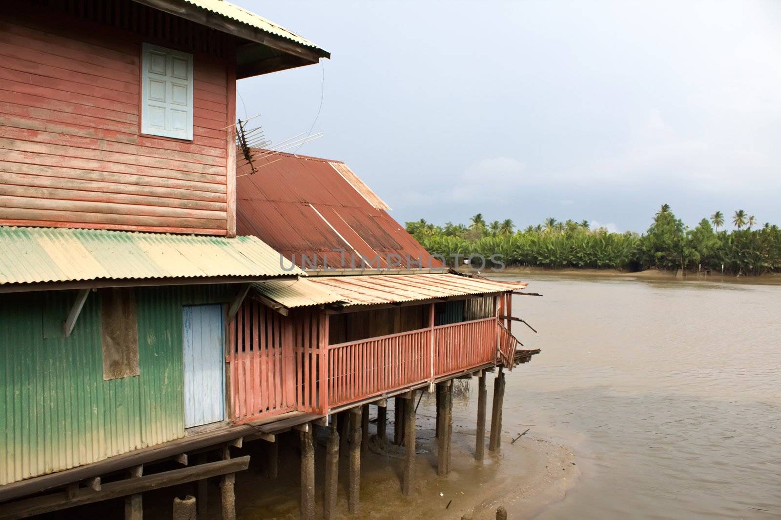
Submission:
M 304 273 L 256 237 L 0 226 L 0 286 L 296 274 Z

